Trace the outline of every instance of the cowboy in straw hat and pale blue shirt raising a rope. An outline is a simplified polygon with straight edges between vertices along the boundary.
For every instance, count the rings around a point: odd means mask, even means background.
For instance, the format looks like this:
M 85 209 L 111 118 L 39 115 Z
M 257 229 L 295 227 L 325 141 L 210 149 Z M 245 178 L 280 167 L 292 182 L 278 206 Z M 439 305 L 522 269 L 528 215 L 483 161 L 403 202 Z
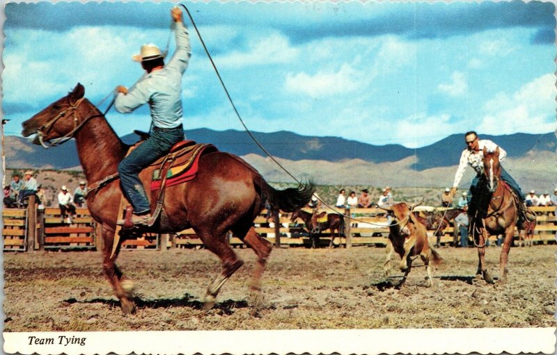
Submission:
M 164 56 L 155 44 L 141 46 L 141 52 L 132 56 L 141 62 L 146 74 L 130 90 L 118 86 L 115 101 L 116 110 L 130 113 L 143 104 L 149 104 L 152 124 L 147 140 L 137 146 L 118 165 L 120 186 L 134 208 L 133 224 L 150 224 L 149 201 L 139 180 L 139 172 L 158 158 L 168 154 L 173 145 L 184 140 L 182 129 L 182 75 L 186 71 L 191 49 L 189 35 L 182 21 L 182 10 L 171 10 L 176 40 L 176 51 L 164 65 Z M 124 221 L 118 221 L 123 224 Z

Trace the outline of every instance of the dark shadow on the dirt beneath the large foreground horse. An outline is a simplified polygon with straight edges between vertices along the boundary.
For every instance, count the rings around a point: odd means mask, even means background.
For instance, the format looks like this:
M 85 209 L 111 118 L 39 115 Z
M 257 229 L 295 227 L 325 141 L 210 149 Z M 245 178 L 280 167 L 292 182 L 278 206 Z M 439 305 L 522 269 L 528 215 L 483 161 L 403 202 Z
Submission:
M 171 307 L 188 307 L 192 309 L 203 309 L 203 302 L 194 299 L 193 296 L 185 294 L 182 298 L 166 298 L 166 299 L 141 299 L 140 297 L 134 296 L 130 299 L 134 302 L 137 308 L 171 308 Z M 63 302 L 66 304 L 107 304 L 111 308 L 120 307 L 120 301 L 116 299 L 106 299 L 106 298 L 94 298 L 86 299 L 80 301 L 75 298 L 65 299 Z M 233 299 L 226 299 L 226 301 L 219 302 L 213 306 L 212 309 L 217 309 L 225 313 L 226 315 L 231 315 L 234 313 L 235 308 L 247 308 L 248 302 L 241 300 L 235 301 Z

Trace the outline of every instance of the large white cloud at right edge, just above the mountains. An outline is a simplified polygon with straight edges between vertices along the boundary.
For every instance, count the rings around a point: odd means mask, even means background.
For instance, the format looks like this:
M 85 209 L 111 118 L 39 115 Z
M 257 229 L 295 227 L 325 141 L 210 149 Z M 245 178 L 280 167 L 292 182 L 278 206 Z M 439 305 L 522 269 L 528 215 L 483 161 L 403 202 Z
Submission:
M 478 131 L 492 134 L 547 133 L 556 129 L 554 74 L 545 74 L 517 92 L 499 92 L 487 101 Z

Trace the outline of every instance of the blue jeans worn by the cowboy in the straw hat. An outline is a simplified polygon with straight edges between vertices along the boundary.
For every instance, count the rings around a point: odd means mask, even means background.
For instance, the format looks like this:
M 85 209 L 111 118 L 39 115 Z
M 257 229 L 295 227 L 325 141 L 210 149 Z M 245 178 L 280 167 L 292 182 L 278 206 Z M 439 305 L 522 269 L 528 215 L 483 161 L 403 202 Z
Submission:
M 153 126 L 151 136 L 137 146 L 118 165 L 120 187 L 134 208 L 134 214 L 144 215 L 150 212 L 143 183 L 139 180 L 139 172 L 154 163 L 158 158 L 168 154 L 173 145 L 184 140 L 182 125 L 175 129 L 159 129 Z

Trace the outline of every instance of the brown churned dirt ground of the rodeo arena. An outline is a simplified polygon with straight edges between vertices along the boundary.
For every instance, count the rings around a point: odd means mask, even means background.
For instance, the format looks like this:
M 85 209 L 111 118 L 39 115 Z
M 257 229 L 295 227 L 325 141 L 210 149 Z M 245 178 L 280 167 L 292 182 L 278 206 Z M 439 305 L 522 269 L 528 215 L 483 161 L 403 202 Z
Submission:
M 210 251 L 123 251 L 118 264 L 135 282 L 134 315 L 121 313 L 99 252 L 5 253 L 5 331 L 556 326 L 554 245 L 513 248 L 508 282 L 494 285 L 473 279 L 475 249 L 444 247 L 434 288 L 425 287 L 418 267 L 400 290 L 389 285 L 397 278 L 382 276 L 385 249 L 275 249 L 256 313 L 248 304 L 256 259 L 249 249 L 235 250 L 246 265 L 210 311 L 201 302 L 220 270 Z M 500 251 L 487 250 L 494 276 Z

